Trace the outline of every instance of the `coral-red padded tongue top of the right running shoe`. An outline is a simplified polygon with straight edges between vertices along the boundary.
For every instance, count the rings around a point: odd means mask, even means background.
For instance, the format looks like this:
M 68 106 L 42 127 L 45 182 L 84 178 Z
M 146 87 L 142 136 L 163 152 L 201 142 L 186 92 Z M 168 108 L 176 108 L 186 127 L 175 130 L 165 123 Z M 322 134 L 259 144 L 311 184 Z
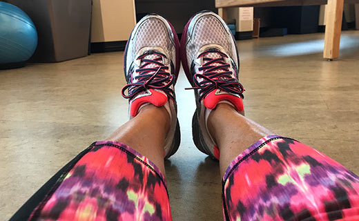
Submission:
M 211 91 L 211 93 L 204 98 L 204 106 L 213 110 L 221 101 L 231 102 L 239 112 L 244 109 L 242 98 L 240 96 L 227 93 L 220 89 Z

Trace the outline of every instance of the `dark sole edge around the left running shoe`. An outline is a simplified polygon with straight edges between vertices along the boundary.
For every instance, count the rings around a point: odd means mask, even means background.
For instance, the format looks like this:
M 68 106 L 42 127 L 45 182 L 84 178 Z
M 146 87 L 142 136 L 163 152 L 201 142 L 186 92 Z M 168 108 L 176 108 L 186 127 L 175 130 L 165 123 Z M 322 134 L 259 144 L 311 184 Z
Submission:
M 155 14 L 149 14 L 148 16 L 158 16 L 158 15 L 155 15 Z M 180 61 L 180 58 L 179 58 L 179 39 L 177 37 L 177 33 L 175 32 L 175 28 L 173 28 L 172 24 L 167 21 L 166 19 L 164 19 L 163 17 L 159 17 L 159 19 L 163 22 L 167 22 L 168 25 L 170 26 L 171 28 L 171 31 L 172 31 L 172 34 L 173 34 L 173 40 L 174 40 L 174 43 L 175 43 L 175 50 L 176 50 L 176 61 L 175 61 L 175 76 L 176 76 L 176 79 L 175 79 L 175 82 L 177 81 L 177 78 L 178 78 L 178 74 L 179 74 L 179 68 L 181 66 L 181 61 Z M 141 21 L 139 21 L 141 22 Z M 130 34 L 130 37 L 126 43 L 126 47 L 125 47 L 125 51 L 124 51 L 124 73 L 125 73 L 125 77 L 126 77 L 126 59 L 127 59 L 127 50 L 128 50 L 128 43 L 130 42 L 130 39 L 132 38 L 132 35 L 133 35 L 133 32 L 135 31 L 135 28 L 132 30 L 131 34 Z M 128 81 L 128 79 L 126 79 L 126 81 Z M 175 83 L 174 83 L 175 84 Z M 176 107 L 176 113 L 177 113 L 177 107 Z M 181 131 L 179 129 L 179 122 L 178 122 L 178 118 L 177 118 L 177 123 L 176 123 L 176 128 L 175 128 L 175 136 L 173 137 L 173 142 L 171 144 L 171 147 L 170 147 L 170 151 L 168 151 L 167 155 L 164 157 L 165 160 L 167 160 L 169 157 L 171 157 L 171 155 L 175 154 L 179 148 L 179 144 L 181 142 Z

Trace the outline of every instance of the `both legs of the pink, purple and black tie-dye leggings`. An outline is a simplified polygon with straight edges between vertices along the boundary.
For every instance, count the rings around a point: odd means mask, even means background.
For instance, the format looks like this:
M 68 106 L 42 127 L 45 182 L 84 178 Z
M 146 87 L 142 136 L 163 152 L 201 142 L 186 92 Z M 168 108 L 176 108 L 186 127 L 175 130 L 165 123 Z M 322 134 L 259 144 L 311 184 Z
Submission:
M 300 142 L 268 136 L 222 180 L 224 220 L 359 220 L 359 177 Z M 95 142 L 11 220 L 172 220 L 166 180 L 125 144 Z

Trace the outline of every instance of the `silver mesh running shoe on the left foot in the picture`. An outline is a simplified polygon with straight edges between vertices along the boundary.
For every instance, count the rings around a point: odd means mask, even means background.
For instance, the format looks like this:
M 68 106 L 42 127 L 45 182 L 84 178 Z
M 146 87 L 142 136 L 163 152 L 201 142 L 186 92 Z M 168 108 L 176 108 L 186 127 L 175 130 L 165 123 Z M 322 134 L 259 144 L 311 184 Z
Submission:
M 180 140 L 174 91 L 179 65 L 179 41 L 171 24 L 154 14 L 141 19 L 124 53 L 128 84 L 122 88 L 122 96 L 129 99 L 130 118 L 148 104 L 166 108 L 171 127 L 165 140 L 165 158 L 177 151 Z

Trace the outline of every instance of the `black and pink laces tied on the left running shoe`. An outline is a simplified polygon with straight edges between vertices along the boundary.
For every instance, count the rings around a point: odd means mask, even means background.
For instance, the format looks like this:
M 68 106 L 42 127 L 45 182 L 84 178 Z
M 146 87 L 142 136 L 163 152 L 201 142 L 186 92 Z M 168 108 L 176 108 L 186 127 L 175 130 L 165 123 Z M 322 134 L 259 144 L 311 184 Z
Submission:
M 155 59 L 146 59 L 147 55 L 157 55 L 157 57 Z M 164 91 L 168 97 L 174 99 L 174 92 L 170 86 L 175 81 L 175 77 L 171 75 L 171 73 L 166 72 L 168 66 L 160 62 L 163 57 L 167 58 L 166 55 L 161 52 L 144 52 L 143 55 L 137 57 L 137 60 L 142 61 L 142 65 L 135 70 L 139 73 L 139 75 L 135 77 L 138 81 L 124 86 L 124 88 L 122 88 L 122 97 L 132 99 L 138 93 L 153 88 Z M 146 68 L 150 64 L 155 64 L 155 67 Z M 125 90 L 127 90 L 127 95 L 125 94 Z

